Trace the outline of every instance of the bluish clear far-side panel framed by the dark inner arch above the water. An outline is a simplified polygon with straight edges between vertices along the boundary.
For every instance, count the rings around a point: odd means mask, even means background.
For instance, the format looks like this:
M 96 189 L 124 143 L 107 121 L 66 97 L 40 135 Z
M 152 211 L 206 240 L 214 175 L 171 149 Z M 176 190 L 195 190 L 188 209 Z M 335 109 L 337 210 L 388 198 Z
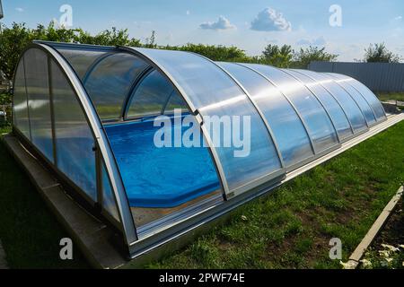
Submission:
M 126 117 L 160 115 L 171 95 L 172 83 L 160 72 L 154 70 L 145 75 L 130 98 Z

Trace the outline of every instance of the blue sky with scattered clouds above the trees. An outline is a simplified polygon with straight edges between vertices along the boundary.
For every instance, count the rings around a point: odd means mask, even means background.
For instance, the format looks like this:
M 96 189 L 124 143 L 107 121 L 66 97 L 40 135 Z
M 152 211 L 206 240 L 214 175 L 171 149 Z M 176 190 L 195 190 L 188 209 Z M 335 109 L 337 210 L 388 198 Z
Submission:
M 92 33 L 112 26 L 145 40 L 156 31 L 158 44 L 187 42 L 235 45 L 258 55 L 270 43 L 294 48 L 325 46 L 340 61 L 362 58 L 370 43 L 385 42 L 404 57 L 402 0 L 3 0 L 2 22 L 30 27 L 59 19 L 73 8 L 73 27 Z M 342 26 L 329 25 L 329 7 L 338 4 Z

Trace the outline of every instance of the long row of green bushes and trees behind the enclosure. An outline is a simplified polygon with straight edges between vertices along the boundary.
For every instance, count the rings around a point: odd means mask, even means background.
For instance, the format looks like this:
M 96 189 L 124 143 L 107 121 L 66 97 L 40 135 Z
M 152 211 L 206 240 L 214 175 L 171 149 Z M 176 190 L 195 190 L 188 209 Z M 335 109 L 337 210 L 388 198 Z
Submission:
M 11 27 L 2 27 L 0 34 L 0 70 L 8 79 L 13 78 L 13 71 L 24 48 L 34 39 L 67 43 L 82 43 L 103 46 L 130 46 L 145 48 L 165 48 L 198 53 L 214 61 L 242 62 L 275 65 L 278 67 L 306 68 L 311 61 L 335 61 L 337 55 L 329 54 L 325 48 L 310 47 L 294 51 L 291 46 L 268 45 L 259 56 L 250 57 L 244 50 L 237 47 L 221 45 L 205 45 L 188 43 L 182 46 L 159 46 L 155 32 L 142 43 L 139 39 L 131 38 L 128 30 L 103 30 L 92 35 L 82 29 L 66 29 L 56 27 L 51 22 L 48 27 L 38 25 L 34 29 L 24 23 L 13 23 Z

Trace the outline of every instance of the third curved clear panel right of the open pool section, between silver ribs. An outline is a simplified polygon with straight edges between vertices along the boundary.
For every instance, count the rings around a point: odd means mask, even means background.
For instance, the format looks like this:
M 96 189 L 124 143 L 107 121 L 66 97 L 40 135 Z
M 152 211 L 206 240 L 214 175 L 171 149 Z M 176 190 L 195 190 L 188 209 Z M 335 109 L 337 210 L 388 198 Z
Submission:
M 338 144 L 337 133 L 321 103 L 294 77 L 269 65 L 248 64 L 264 74 L 293 103 L 303 118 L 316 153 Z

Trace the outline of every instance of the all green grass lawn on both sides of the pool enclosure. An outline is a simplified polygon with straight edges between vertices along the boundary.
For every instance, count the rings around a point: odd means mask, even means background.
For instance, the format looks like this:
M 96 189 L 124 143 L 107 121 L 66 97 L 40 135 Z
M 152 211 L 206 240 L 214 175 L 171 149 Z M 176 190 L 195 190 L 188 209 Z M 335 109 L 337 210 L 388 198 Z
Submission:
M 404 182 L 404 122 L 237 209 L 225 225 L 149 268 L 339 268 Z M 66 236 L 0 143 L 0 239 L 11 267 L 83 267 L 58 260 Z

